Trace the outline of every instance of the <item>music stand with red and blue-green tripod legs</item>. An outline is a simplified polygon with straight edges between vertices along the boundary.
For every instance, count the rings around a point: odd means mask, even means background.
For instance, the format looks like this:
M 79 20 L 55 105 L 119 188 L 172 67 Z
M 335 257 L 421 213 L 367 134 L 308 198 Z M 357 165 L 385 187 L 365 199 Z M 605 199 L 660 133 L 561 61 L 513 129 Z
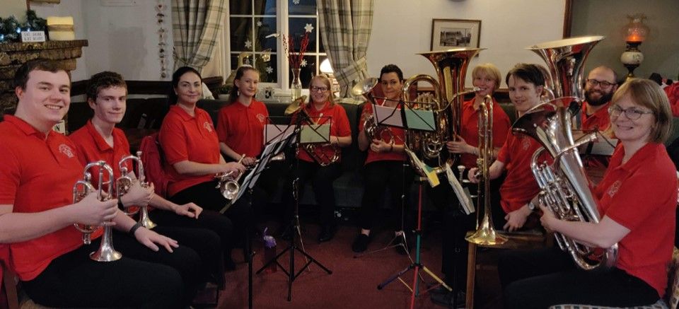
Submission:
M 404 106 L 403 108 L 401 108 L 401 115 L 402 118 L 405 120 L 403 122 L 403 127 L 405 129 L 414 129 L 422 131 L 434 131 L 436 129 L 436 124 L 434 123 L 434 114 L 431 110 L 413 110 L 410 106 L 407 105 L 407 103 L 403 101 L 400 101 L 399 105 Z M 393 115 L 395 115 L 395 113 Z M 400 272 L 397 272 L 393 276 L 390 276 L 381 284 L 378 284 L 377 289 L 381 290 L 382 288 L 384 288 L 391 282 L 395 281 L 396 279 L 399 279 L 403 284 L 405 284 L 405 281 L 400 279 L 400 276 L 409 272 L 411 269 L 414 270 L 412 287 L 409 286 L 410 290 L 412 291 L 410 296 L 410 308 L 412 309 L 414 308 L 415 305 L 415 297 L 419 296 L 418 277 L 419 279 L 424 281 L 422 275 L 419 274 L 419 269 L 422 269 L 422 271 L 426 272 L 426 274 L 429 274 L 429 276 L 431 276 L 432 279 L 436 280 L 437 282 L 439 282 L 439 284 L 446 287 L 448 291 L 452 291 L 452 288 L 448 286 L 445 282 L 443 282 L 443 280 L 441 280 L 438 276 L 436 276 L 436 274 L 434 274 L 428 268 L 426 268 L 426 266 L 424 266 L 424 264 L 422 264 L 422 261 L 420 260 L 420 250 L 422 245 L 422 199 L 423 199 L 422 190 L 424 189 L 425 181 L 428 181 L 432 187 L 438 185 L 438 176 L 436 176 L 436 173 L 433 173 L 432 176 L 431 168 L 428 168 L 426 164 L 422 163 L 422 161 L 419 161 L 417 156 L 412 151 L 410 151 L 407 148 L 405 149 L 405 151 L 408 154 L 408 156 L 410 156 L 413 163 L 417 165 L 416 168 L 421 169 L 426 174 L 425 177 L 415 177 L 415 180 L 418 182 L 417 228 L 414 230 L 416 243 L 415 260 L 414 262 L 411 262 L 405 269 L 402 269 Z M 432 177 L 436 177 L 436 181 L 434 181 Z M 427 289 L 427 291 L 429 291 L 429 289 Z

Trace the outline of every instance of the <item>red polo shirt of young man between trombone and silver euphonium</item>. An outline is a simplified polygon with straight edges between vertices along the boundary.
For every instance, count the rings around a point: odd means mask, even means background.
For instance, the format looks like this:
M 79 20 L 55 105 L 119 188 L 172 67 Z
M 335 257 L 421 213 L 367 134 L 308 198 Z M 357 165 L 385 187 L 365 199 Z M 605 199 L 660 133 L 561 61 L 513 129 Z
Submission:
M 538 182 L 535 181 L 533 171 L 530 170 L 530 159 L 540 148 L 535 139 L 521 134 L 509 134 L 497 161 L 505 164 L 507 175 L 500 186 L 500 204 L 504 212 L 508 213 L 520 209 L 530 199 L 540 192 Z M 540 158 L 546 158 L 544 154 Z

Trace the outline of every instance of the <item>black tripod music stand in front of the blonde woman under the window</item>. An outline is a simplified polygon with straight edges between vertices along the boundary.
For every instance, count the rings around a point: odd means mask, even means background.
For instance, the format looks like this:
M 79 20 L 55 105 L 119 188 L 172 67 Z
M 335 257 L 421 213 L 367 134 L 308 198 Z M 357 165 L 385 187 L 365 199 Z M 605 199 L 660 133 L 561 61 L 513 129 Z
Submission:
M 306 116 L 306 113 L 304 113 L 304 112 L 298 112 L 296 115 L 297 115 L 297 117 L 296 117 L 295 123 L 291 124 L 291 125 L 294 125 L 294 132 L 282 140 L 282 142 L 284 143 L 285 146 L 296 147 L 298 144 L 300 144 L 299 137 L 301 136 L 303 122 L 307 122 L 307 123 L 312 122 L 311 119 L 308 119 L 308 117 Z M 318 126 L 317 127 L 309 126 L 309 128 L 313 132 L 315 132 L 316 134 L 323 136 L 322 134 L 320 134 L 320 132 L 317 131 Z M 286 132 L 286 131 L 287 130 L 283 130 L 283 132 Z M 325 138 L 325 140 L 328 141 L 327 138 Z M 313 158 L 313 156 L 312 156 L 312 158 Z M 299 159 L 297 159 L 296 164 L 299 165 Z M 262 266 L 262 268 L 258 269 L 257 272 L 255 273 L 255 274 L 260 274 L 260 272 L 262 272 L 264 269 L 269 267 L 269 265 L 274 264 L 274 263 L 277 264 L 277 266 L 282 269 L 282 271 L 286 274 L 286 276 L 288 276 L 288 298 L 287 298 L 288 301 L 292 301 L 292 284 L 294 283 L 295 279 L 297 279 L 297 277 L 300 274 L 302 274 L 302 272 L 305 269 L 307 269 L 311 265 L 311 263 L 318 265 L 318 267 L 320 267 L 325 272 L 327 272 L 327 274 L 332 274 L 332 271 L 330 269 L 327 269 L 327 267 L 323 266 L 323 264 L 320 264 L 320 262 L 315 260 L 311 255 L 309 255 L 306 252 L 306 250 L 304 250 L 303 245 L 302 245 L 301 248 L 296 245 L 297 236 L 299 236 L 300 241 L 301 241 L 301 232 L 300 232 L 300 227 L 299 227 L 299 198 L 298 198 L 299 187 L 298 187 L 298 180 L 299 180 L 299 178 L 296 178 L 293 181 L 293 196 L 294 196 L 294 199 L 295 199 L 295 207 L 294 207 L 293 216 L 291 218 L 291 228 L 294 228 L 294 231 L 291 235 L 292 238 L 289 241 L 289 245 L 282 252 L 279 252 L 279 254 L 277 254 L 276 257 L 274 257 L 272 260 L 270 260 L 269 262 L 264 264 L 264 266 Z M 295 250 L 297 250 L 298 253 L 301 253 L 307 259 L 306 264 L 304 264 L 304 266 L 301 269 L 299 269 L 298 272 L 295 272 Z M 278 262 L 279 257 L 282 257 L 282 255 L 284 255 L 286 252 L 290 252 L 289 269 L 285 269 L 285 267 L 283 267 L 283 265 L 280 262 Z M 250 273 L 250 274 L 252 274 L 252 273 Z

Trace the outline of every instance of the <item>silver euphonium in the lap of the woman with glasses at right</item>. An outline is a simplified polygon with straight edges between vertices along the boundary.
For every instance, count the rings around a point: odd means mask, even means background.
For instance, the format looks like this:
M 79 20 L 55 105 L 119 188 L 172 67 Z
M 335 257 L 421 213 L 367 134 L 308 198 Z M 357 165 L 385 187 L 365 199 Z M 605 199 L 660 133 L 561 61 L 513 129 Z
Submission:
M 547 206 L 561 220 L 598 223 L 600 215 L 596 199 L 590 190 L 577 150 L 581 144 L 596 139 L 596 134 L 588 134 L 574 141 L 570 126 L 571 116 L 567 107 L 542 103 L 516 120 L 512 125 L 512 133 L 525 134 L 542 145 L 535 151 L 531 161 L 533 175 L 540 186 L 538 202 Z M 538 161 L 543 151 L 554 158 L 552 165 Z M 593 261 L 588 257 L 593 255 L 595 248 L 559 233 L 555 233 L 555 238 L 559 247 L 569 252 L 581 269 L 608 269 L 617 260 L 617 244 L 606 248 L 599 260 Z

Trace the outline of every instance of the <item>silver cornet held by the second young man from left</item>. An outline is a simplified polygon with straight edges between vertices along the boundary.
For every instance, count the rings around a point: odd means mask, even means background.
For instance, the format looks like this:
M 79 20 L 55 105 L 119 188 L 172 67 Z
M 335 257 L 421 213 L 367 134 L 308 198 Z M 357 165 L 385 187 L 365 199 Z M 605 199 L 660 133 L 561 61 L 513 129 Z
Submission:
M 118 162 L 118 166 L 120 168 L 120 178 L 118 178 L 116 182 L 116 192 L 118 194 L 118 197 L 122 197 L 124 194 L 127 194 L 129 191 L 129 187 L 132 186 L 132 177 L 129 175 L 130 171 L 127 170 L 127 161 L 133 161 L 137 163 L 137 177 L 139 177 L 139 185 L 141 187 L 147 188 L 149 187 L 149 182 L 146 182 L 146 174 L 144 174 L 144 164 L 141 163 L 141 151 L 137 151 L 137 156 L 126 156 L 122 159 L 120 159 L 120 162 Z M 132 166 L 134 166 L 134 163 L 132 163 Z M 151 221 L 151 218 L 149 218 L 149 207 L 148 206 L 131 206 L 131 207 L 125 207 L 124 213 L 127 214 L 128 216 L 132 216 L 134 214 L 137 214 L 138 211 L 141 209 L 141 214 L 139 214 L 139 223 L 141 223 L 141 226 L 144 226 L 144 228 L 148 228 L 149 230 L 151 228 L 155 228 L 157 226 L 156 223 L 153 223 Z

